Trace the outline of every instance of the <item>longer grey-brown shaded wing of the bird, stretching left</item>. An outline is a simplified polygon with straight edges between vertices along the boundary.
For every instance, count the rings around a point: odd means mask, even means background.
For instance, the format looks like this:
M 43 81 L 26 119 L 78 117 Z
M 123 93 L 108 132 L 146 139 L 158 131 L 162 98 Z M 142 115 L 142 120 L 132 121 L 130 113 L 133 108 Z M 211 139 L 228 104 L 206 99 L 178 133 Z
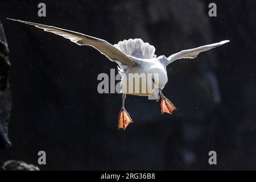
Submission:
M 7 18 L 10 19 L 10 18 Z M 106 40 L 94 38 L 93 36 L 84 35 L 79 32 L 74 32 L 70 30 L 65 30 L 63 28 L 57 28 L 53 26 L 47 26 L 39 23 L 26 22 L 23 20 L 10 19 L 18 21 L 21 23 L 30 24 L 32 26 L 43 29 L 47 32 L 52 32 L 53 34 L 63 36 L 66 39 L 71 40 L 72 42 L 78 44 L 79 46 L 92 46 L 104 54 L 108 59 L 112 61 L 119 61 L 126 65 L 134 65 L 134 61 L 130 57 L 126 56 L 124 53 L 115 48 L 112 44 L 106 42 Z

